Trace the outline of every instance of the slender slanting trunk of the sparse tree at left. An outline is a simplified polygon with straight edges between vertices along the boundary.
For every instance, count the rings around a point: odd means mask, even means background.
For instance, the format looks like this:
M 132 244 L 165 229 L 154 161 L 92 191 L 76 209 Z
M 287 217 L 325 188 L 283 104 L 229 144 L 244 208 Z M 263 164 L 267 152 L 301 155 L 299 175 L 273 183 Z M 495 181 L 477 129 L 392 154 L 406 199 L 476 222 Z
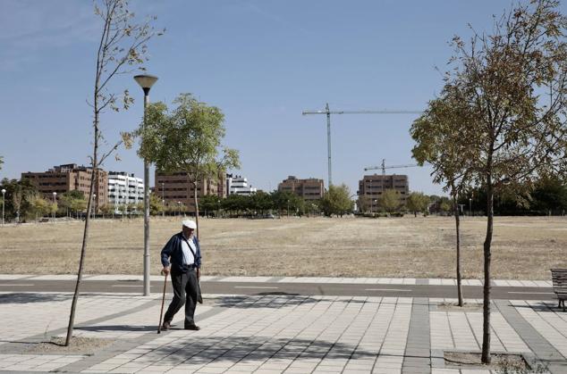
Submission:
M 97 100 L 95 98 L 95 100 Z M 77 309 L 77 301 L 79 300 L 79 290 L 80 290 L 80 282 L 82 280 L 82 270 L 83 264 L 85 261 L 85 252 L 87 249 L 87 242 L 89 240 L 89 223 L 90 223 L 90 211 L 91 211 L 91 204 L 92 204 L 92 195 L 94 194 L 95 190 L 95 183 L 98 181 L 98 172 L 97 172 L 97 151 L 98 151 L 98 114 L 95 113 L 95 145 L 93 149 L 93 170 L 90 179 L 90 190 L 89 190 L 89 201 L 87 202 L 87 217 L 85 219 L 85 229 L 83 230 L 82 234 L 82 246 L 80 248 L 80 261 L 79 261 L 79 272 L 77 273 L 77 283 L 75 284 L 75 292 L 72 296 L 72 303 L 71 303 L 71 313 L 69 315 L 69 325 L 67 326 L 67 337 L 65 338 L 65 346 L 69 346 L 71 343 L 72 337 L 72 329 L 75 324 L 75 311 Z

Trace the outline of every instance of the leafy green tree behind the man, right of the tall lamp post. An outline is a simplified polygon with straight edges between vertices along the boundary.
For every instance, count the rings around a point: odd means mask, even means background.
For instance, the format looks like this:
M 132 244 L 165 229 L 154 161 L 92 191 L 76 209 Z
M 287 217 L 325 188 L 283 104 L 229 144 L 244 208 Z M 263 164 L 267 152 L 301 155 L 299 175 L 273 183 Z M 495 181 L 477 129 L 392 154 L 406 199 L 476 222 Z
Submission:
M 163 103 L 148 107 L 146 126 L 140 128 L 138 154 L 165 173 L 185 172 L 193 187 L 193 204 L 199 237 L 198 186 L 218 180 L 228 169 L 240 168 L 238 151 L 223 147 L 224 114 L 190 94 L 178 96 L 173 112 Z

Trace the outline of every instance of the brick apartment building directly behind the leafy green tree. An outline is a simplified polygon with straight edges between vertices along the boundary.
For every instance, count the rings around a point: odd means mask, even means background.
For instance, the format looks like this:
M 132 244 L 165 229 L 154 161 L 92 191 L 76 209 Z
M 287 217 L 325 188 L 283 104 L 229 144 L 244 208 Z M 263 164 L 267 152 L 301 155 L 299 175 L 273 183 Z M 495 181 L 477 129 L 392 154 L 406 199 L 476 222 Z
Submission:
M 163 174 L 156 171 L 156 187 L 154 194 L 165 200 L 169 206 L 183 204 L 186 212 L 195 212 L 193 202 L 194 188 L 184 172 Z M 226 197 L 226 177 L 221 173 L 218 180 L 207 179 L 197 185 L 197 199 L 205 195 L 216 195 L 219 198 Z

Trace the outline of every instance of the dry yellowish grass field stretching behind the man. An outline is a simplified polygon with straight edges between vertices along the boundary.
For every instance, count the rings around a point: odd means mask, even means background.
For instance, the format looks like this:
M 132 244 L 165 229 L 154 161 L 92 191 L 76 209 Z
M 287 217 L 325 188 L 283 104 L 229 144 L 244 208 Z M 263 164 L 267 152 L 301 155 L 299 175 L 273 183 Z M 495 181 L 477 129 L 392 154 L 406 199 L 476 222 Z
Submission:
M 151 221 L 151 271 L 181 220 Z M 454 278 L 451 217 L 200 220 L 204 275 Z M 83 224 L 0 228 L 0 273 L 76 273 Z M 486 219 L 462 220 L 465 278 L 482 274 Z M 89 274 L 142 273 L 142 220 L 95 220 Z M 567 219 L 495 218 L 494 278 L 547 279 L 567 267 Z

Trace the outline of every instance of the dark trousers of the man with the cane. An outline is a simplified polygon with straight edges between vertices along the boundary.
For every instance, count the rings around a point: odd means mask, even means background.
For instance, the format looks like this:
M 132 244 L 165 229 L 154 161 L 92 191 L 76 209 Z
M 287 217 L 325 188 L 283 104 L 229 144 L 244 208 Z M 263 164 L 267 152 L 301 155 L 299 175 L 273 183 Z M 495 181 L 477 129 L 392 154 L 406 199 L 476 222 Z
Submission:
M 197 273 L 195 269 L 187 272 L 178 272 L 172 269 L 170 273 L 173 285 L 173 300 L 165 312 L 164 321 L 170 322 L 176 312 L 179 312 L 183 304 L 185 304 L 185 326 L 195 323 L 195 306 L 197 305 L 197 296 L 199 287 L 197 284 Z

